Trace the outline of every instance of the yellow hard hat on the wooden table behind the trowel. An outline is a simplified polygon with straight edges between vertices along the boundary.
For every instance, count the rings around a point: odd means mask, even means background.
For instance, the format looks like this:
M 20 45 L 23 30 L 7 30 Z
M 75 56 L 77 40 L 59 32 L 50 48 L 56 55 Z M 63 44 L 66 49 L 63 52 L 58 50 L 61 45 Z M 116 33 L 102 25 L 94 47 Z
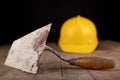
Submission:
M 95 24 L 80 15 L 66 20 L 60 30 L 58 45 L 64 52 L 93 52 L 98 46 Z

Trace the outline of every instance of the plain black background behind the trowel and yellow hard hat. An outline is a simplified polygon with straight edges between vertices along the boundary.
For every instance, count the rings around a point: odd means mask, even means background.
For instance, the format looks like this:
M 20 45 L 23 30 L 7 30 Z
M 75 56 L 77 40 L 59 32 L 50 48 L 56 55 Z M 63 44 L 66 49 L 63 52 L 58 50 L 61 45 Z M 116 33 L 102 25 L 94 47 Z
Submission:
M 48 42 L 57 42 L 62 23 L 73 16 L 91 19 L 97 28 L 99 40 L 120 41 L 119 29 L 113 26 L 110 15 L 114 12 L 109 0 L 15 0 L 5 2 L 4 23 L 0 27 L 0 45 L 11 44 L 15 39 L 44 25 L 52 23 Z

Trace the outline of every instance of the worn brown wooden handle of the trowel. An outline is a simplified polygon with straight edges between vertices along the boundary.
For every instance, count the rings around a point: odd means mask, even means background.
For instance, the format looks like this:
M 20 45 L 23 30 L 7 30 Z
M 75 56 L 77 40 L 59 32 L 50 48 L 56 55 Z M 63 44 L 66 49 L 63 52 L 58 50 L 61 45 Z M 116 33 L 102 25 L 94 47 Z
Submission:
M 69 61 L 71 65 L 75 65 L 86 69 L 110 69 L 114 68 L 114 61 L 101 57 L 80 57 L 71 59 Z

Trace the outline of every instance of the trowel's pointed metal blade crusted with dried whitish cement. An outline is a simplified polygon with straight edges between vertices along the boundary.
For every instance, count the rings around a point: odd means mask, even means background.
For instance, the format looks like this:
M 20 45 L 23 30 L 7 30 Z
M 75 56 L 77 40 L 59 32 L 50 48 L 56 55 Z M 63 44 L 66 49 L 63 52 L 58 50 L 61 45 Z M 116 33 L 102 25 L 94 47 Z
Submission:
M 36 74 L 40 54 L 43 52 L 51 24 L 41 27 L 17 40 L 9 50 L 5 65 Z

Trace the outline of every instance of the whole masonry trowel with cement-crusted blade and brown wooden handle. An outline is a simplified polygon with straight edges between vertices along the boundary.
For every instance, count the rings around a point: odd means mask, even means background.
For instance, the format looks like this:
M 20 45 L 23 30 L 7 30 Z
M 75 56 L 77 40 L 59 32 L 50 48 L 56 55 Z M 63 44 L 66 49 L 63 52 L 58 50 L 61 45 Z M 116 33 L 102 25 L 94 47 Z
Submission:
M 51 26 L 52 23 L 13 41 L 4 64 L 31 74 L 36 74 L 40 63 L 40 56 L 46 49 L 70 65 L 94 70 L 114 68 L 114 61 L 106 58 L 79 57 L 66 59 L 60 56 L 58 51 L 46 45 Z

